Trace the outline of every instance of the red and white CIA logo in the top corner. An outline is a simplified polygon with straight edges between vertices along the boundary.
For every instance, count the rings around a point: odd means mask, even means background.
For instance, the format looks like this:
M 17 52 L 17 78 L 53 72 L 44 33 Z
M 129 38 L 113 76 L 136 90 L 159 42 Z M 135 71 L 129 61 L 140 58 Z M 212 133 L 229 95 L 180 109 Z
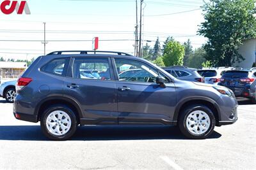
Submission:
M 13 13 L 13 11 L 16 11 L 17 14 L 22 14 L 23 11 L 25 11 L 26 14 L 31 14 L 28 3 L 26 1 L 21 1 L 20 4 L 18 1 L 3 1 L 0 5 L 1 11 L 9 15 Z

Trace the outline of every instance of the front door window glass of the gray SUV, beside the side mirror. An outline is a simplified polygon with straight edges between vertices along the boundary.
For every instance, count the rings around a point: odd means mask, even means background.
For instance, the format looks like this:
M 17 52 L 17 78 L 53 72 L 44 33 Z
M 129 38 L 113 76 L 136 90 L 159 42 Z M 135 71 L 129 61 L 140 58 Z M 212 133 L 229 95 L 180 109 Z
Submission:
M 143 62 L 115 59 L 115 64 L 119 81 L 156 82 L 157 71 Z

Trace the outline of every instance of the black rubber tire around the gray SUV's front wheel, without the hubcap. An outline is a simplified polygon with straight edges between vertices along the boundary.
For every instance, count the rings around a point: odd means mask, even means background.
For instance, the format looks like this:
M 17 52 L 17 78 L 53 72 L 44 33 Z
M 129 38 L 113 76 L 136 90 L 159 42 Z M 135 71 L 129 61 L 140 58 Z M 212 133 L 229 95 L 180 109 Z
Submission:
M 210 118 L 209 129 L 207 131 L 205 131 L 203 134 L 193 134 L 192 132 L 189 132 L 188 127 L 186 125 L 186 120 L 187 120 L 189 114 L 192 113 L 193 111 L 196 111 L 196 110 L 204 111 Z M 212 111 L 207 106 L 191 105 L 191 106 L 188 106 L 183 111 L 181 111 L 178 124 L 179 124 L 180 131 L 187 138 L 189 138 L 189 139 L 206 139 L 214 131 L 216 120 L 215 120 L 214 114 L 212 113 Z

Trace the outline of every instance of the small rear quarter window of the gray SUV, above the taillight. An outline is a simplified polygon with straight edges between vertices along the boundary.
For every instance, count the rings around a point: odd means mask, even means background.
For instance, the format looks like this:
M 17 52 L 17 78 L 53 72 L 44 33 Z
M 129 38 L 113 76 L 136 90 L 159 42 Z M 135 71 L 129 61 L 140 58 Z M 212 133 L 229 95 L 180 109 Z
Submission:
M 51 74 L 56 74 L 56 75 L 61 75 L 65 76 L 67 72 L 67 67 L 68 67 L 69 59 L 54 59 L 45 64 L 42 68 L 41 71 L 44 71 L 46 73 L 51 73 Z

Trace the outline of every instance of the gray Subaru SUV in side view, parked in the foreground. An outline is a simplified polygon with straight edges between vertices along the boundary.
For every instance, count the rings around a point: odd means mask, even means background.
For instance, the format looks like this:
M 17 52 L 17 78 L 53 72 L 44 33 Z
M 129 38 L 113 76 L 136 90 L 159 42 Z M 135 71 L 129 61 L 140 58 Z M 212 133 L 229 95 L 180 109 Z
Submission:
M 50 139 L 66 140 L 77 125 L 177 125 L 191 139 L 237 120 L 225 87 L 181 81 L 147 60 L 121 52 L 52 52 L 17 81 L 13 114 L 40 121 Z M 120 77 L 121 72 L 139 69 Z

